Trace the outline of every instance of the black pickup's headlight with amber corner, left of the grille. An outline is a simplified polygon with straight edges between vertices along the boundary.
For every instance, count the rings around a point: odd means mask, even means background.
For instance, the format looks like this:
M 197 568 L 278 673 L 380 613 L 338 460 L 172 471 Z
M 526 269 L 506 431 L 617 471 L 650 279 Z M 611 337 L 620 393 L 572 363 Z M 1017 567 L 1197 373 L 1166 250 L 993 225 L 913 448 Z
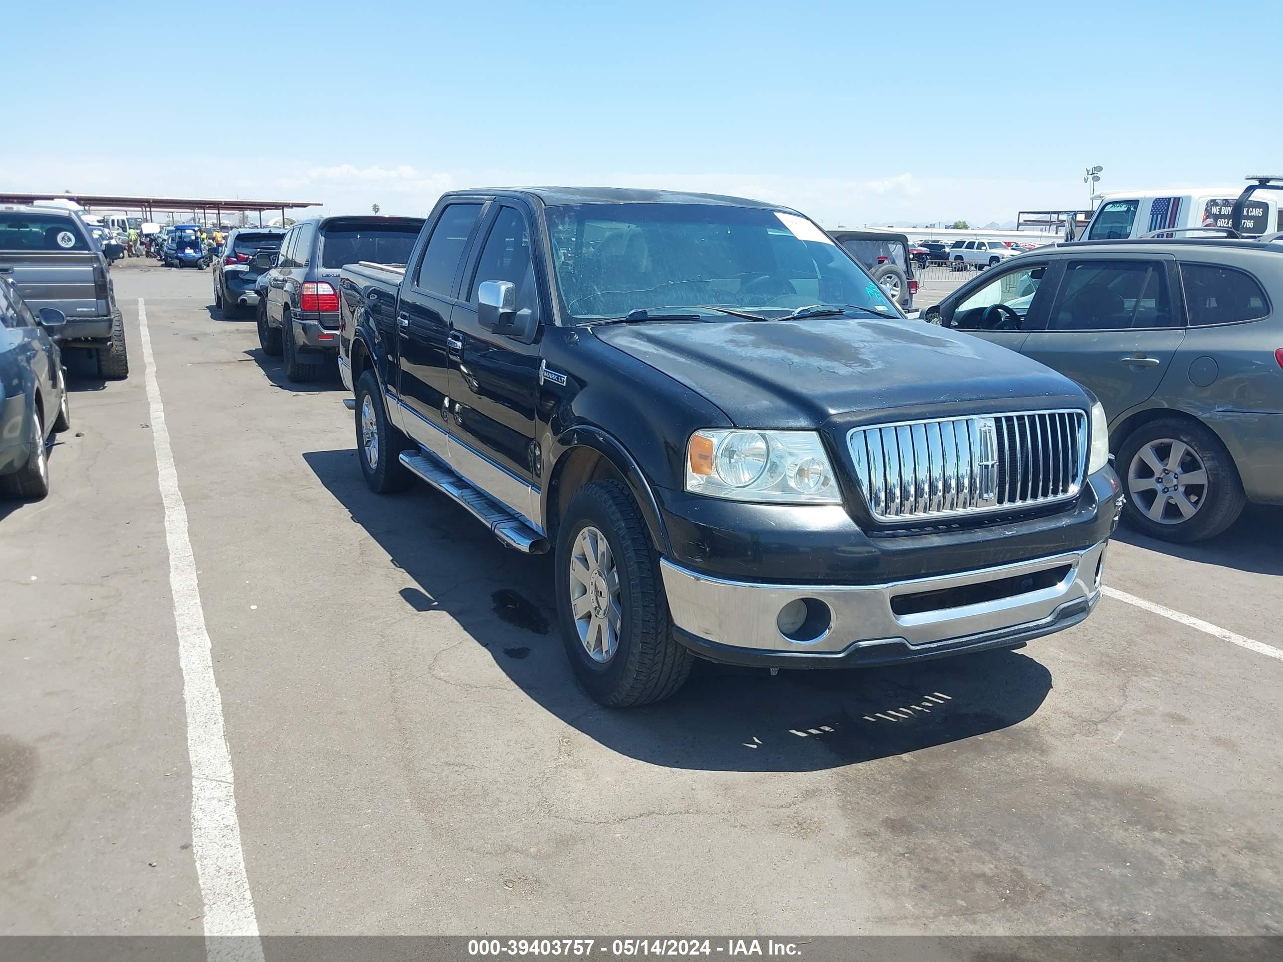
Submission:
M 686 444 L 686 490 L 736 502 L 842 504 L 815 431 L 695 431 Z

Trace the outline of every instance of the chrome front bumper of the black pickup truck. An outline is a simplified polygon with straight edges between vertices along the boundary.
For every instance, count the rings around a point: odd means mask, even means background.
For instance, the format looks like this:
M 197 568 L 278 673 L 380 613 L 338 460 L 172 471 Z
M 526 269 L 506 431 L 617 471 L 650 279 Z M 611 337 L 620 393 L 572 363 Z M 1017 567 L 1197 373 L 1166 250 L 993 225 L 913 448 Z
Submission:
M 876 663 L 1017 645 L 1078 623 L 1100 600 L 1105 548 L 1102 541 L 1015 564 L 881 585 L 762 585 L 708 577 L 667 559 L 659 567 L 679 639 L 701 654 L 742 663 Z M 1057 568 L 1066 571 L 1048 582 Z M 999 584 L 987 589 L 987 582 Z M 969 600 L 987 591 L 999 596 Z M 908 603 L 903 595 L 919 598 Z M 785 637 L 776 623 L 780 609 L 799 599 L 820 603 L 829 616 L 826 629 L 807 641 Z M 898 614 L 897 607 L 915 611 Z

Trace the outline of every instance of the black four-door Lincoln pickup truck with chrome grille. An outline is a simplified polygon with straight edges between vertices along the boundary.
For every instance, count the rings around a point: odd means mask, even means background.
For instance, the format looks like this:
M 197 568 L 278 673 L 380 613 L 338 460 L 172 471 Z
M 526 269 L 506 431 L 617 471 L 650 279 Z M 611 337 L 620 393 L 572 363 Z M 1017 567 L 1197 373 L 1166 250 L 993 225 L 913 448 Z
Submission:
M 1119 481 L 1048 368 L 907 321 L 802 214 L 697 194 L 441 198 L 405 267 L 340 277 L 340 372 L 375 491 L 413 477 L 554 553 L 603 704 L 694 655 L 931 658 L 1076 625 Z

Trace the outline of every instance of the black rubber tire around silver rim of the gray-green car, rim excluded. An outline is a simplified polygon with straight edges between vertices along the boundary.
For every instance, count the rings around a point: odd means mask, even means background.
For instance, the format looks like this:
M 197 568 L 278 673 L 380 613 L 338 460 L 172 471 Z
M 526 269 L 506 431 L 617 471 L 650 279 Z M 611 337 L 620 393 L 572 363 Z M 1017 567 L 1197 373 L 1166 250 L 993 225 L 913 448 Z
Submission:
M 1138 502 L 1129 484 L 1132 462 L 1141 449 L 1164 439 L 1188 445 L 1194 455 L 1202 460 L 1203 469 L 1207 472 L 1207 484 L 1202 489 L 1201 502 L 1193 516 L 1188 521 L 1166 525 L 1148 516 L 1150 504 Z M 1170 451 L 1170 448 L 1165 450 Z M 1197 421 L 1159 418 L 1142 425 L 1119 445 L 1115 464 L 1123 477 L 1123 490 L 1126 494 L 1123 521 L 1150 537 L 1177 544 L 1215 537 L 1238 519 L 1243 505 L 1247 504 L 1243 482 L 1238 476 L 1238 468 L 1234 467 L 1234 459 L 1215 432 Z M 1193 500 L 1193 493 L 1197 491 L 1197 487 L 1188 490 L 1191 491 L 1189 500 Z M 1156 491 L 1155 498 L 1159 496 L 1160 493 Z M 1170 517 L 1170 508 L 1162 511 L 1165 517 Z

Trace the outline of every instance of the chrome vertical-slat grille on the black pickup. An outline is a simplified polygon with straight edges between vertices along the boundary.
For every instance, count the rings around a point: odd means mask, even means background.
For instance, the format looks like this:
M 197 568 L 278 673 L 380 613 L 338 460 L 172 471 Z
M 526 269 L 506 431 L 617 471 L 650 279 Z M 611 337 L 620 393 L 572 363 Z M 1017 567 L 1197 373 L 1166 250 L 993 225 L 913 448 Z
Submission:
M 1075 498 L 1087 414 L 1035 410 L 857 427 L 856 480 L 878 521 L 1010 511 Z

